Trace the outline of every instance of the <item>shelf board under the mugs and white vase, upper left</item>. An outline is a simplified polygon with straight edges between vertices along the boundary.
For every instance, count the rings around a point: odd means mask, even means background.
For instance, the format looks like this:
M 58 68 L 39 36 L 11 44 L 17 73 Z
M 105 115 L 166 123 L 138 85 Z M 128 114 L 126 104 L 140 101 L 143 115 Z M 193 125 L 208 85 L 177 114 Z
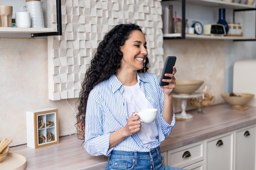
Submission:
M 50 33 L 57 32 L 55 28 L 17 28 L 17 27 L 0 27 L 0 33 Z

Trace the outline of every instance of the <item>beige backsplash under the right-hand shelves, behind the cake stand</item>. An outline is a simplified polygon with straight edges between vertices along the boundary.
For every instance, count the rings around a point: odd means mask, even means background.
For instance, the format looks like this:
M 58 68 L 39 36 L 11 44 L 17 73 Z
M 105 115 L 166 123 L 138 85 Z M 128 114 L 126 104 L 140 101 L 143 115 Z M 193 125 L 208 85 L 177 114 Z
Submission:
M 220 93 L 225 91 L 225 41 L 164 40 L 164 57 L 168 55 L 177 57 L 176 79 L 204 80 L 202 86 L 210 85 L 215 93 L 213 104 L 223 102 Z M 192 108 L 187 105 L 187 109 Z M 181 111 L 180 99 L 174 99 L 174 111 Z

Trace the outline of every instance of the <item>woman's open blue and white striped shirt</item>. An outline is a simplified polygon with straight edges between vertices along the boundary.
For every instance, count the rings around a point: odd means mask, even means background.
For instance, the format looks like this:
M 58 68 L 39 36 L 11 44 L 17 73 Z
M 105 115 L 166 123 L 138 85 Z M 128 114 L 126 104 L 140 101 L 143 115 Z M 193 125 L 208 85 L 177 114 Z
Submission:
M 175 115 L 169 125 L 162 117 L 164 93 L 159 86 L 159 78 L 152 73 L 137 73 L 137 80 L 146 99 L 158 110 L 157 129 L 159 141 L 144 146 L 137 134 L 124 139 L 114 148 L 109 148 L 110 134 L 126 126 L 128 120 L 126 100 L 122 96 L 124 86 L 112 75 L 95 86 L 88 97 L 85 115 L 85 150 L 90 155 L 110 156 L 112 150 L 149 152 L 159 146 L 171 133 L 175 125 Z

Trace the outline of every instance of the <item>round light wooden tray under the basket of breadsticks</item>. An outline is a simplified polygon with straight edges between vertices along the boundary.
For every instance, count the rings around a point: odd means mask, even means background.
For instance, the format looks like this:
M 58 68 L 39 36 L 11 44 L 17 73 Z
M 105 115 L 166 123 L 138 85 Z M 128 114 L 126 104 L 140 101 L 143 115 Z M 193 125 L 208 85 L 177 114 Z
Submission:
M 0 170 L 25 170 L 26 167 L 27 159 L 20 154 L 11 152 L 0 163 Z

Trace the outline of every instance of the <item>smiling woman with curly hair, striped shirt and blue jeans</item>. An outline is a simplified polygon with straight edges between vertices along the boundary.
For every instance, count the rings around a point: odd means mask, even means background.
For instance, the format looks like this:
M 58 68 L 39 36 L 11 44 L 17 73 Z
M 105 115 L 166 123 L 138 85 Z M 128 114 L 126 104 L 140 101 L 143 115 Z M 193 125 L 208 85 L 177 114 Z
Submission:
M 175 170 L 162 164 L 161 142 L 175 125 L 169 85 L 148 71 L 146 39 L 135 24 L 119 24 L 99 43 L 85 73 L 78 122 L 85 125 L 84 147 L 90 155 L 109 157 L 106 170 Z M 152 123 L 139 121 L 141 108 L 156 108 Z M 86 114 L 85 114 L 86 113 Z

